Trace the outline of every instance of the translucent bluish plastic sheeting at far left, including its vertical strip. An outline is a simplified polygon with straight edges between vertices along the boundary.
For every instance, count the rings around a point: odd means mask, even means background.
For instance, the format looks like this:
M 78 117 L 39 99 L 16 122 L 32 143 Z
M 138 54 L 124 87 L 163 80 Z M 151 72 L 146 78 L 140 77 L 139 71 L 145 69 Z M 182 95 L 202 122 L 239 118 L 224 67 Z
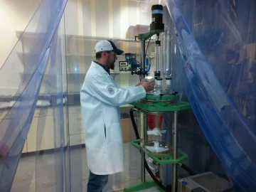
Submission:
M 58 114 L 58 117 L 57 115 L 55 117 L 55 129 L 57 129 L 56 127 L 60 129 L 59 132 L 55 132 L 60 137 L 60 142 L 55 144 L 55 150 L 58 151 L 55 160 L 58 163 L 58 166 L 55 166 L 55 176 L 58 178 L 55 181 L 55 191 L 63 191 L 63 188 L 68 191 L 70 188 L 68 183 L 63 185 L 65 176 L 68 176 L 69 173 L 63 167 L 63 164 L 67 166 L 68 161 L 65 159 L 67 147 L 64 147 L 63 142 L 61 65 L 63 58 L 65 59 L 65 50 L 63 51 L 65 43 L 62 42 L 65 38 L 64 28 L 61 28 L 60 25 L 58 33 L 55 33 L 66 3 L 67 1 L 63 0 L 43 0 L 41 2 L 0 70 L 0 103 L 1 118 L 3 118 L 0 122 L 0 141 L 9 146 L 10 149 L 6 160 L 0 163 L 0 191 L 11 190 L 36 106 L 42 106 L 49 102 L 48 92 L 50 91 L 48 91 L 47 86 L 45 94 L 41 94 L 43 77 L 49 70 L 47 66 L 50 66 L 48 78 L 53 78 L 50 83 L 56 83 L 54 86 L 51 85 L 50 93 L 53 93 L 54 90 L 54 95 L 50 96 L 50 105 L 55 107 Z M 30 36 L 30 38 L 26 38 L 26 36 Z M 57 102 L 59 100 L 60 102 Z M 64 171 L 65 174 L 63 174 Z

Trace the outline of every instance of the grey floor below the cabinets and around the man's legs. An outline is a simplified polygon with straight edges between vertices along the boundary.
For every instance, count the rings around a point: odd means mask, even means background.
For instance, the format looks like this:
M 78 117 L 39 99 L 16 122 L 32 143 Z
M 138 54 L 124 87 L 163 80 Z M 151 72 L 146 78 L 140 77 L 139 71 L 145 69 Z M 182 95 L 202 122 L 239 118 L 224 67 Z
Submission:
M 125 169 L 122 173 L 114 174 L 109 177 L 109 182 L 104 191 L 122 191 L 123 188 L 140 181 L 140 154 L 131 144 L 124 144 Z M 67 188 L 71 191 L 86 191 L 89 169 L 87 168 L 87 159 L 85 148 L 70 150 L 70 156 L 67 155 L 65 161 L 70 161 L 71 186 Z M 54 153 L 43 154 L 40 156 L 23 156 L 18 164 L 16 177 L 11 191 L 63 191 L 64 175 L 62 169 L 58 169 L 58 164 L 62 164 L 63 159 Z M 61 166 L 60 166 L 61 167 Z M 35 171 L 36 170 L 36 171 Z M 69 170 L 69 169 L 67 169 Z M 146 175 L 146 178 L 149 178 Z

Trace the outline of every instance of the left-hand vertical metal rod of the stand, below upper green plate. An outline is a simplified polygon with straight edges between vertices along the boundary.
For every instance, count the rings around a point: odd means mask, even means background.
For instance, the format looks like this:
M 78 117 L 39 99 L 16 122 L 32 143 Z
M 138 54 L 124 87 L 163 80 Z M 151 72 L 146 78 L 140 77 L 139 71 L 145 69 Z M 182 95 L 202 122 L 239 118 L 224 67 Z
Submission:
M 141 135 L 140 135 L 140 146 L 141 146 L 141 149 L 143 149 L 143 144 L 144 144 L 144 141 L 145 141 L 145 137 L 144 137 L 144 113 L 143 112 L 140 112 L 139 113 L 139 116 L 140 116 L 140 132 L 141 132 Z M 143 150 L 141 150 L 141 154 L 142 154 L 142 171 L 141 171 L 141 177 L 142 177 L 142 182 L 144 183 L 145 182 L 145 153 Z

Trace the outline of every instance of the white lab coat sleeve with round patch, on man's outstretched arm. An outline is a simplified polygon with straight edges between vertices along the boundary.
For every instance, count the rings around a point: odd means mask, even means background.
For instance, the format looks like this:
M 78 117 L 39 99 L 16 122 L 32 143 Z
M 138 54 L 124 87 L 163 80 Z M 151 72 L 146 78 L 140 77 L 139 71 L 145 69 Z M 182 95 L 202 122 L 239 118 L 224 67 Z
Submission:
M 86 84 L 86 92 L 107 105 L 124 105 L 146 97 L 146 91 L 142 85 L 129 86 L 125 89 L 117 88 L 107 75 L 92 75 Z M 84 87 L 81 92 L 83 91 L 85 91 Z

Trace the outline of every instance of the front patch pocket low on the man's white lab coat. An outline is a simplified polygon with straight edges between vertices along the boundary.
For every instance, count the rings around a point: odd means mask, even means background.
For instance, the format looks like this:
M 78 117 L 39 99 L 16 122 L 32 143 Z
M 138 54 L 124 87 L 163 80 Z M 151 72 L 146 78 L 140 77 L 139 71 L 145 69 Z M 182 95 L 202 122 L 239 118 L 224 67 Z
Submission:
M 108 143 L 122 142 L 122 129 L 119 123 L 110 124 L 106 129 Z

